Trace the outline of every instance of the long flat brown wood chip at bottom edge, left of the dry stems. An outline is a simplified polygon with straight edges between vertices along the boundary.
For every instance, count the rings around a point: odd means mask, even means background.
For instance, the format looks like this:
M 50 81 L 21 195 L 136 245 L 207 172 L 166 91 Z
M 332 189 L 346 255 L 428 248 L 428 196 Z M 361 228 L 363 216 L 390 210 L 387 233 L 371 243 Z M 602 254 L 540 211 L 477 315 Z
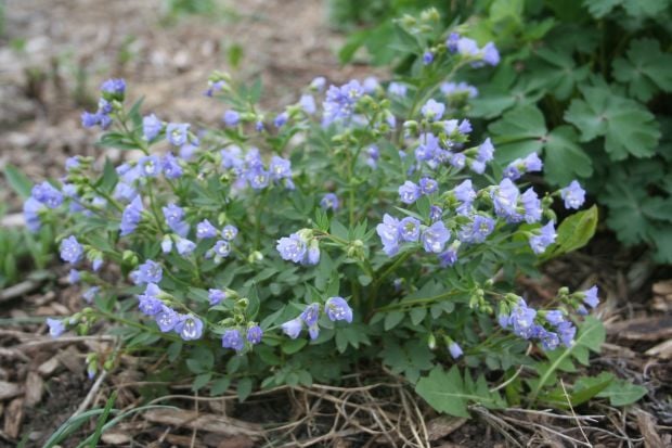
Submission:
M 248 423 L 223 415 L 197 413 L 181 409 L 155 409 L 143 413 L 145 420 L 225 436 L 245 435 L 253 439 L 262 437 L 263 428 L 259 424 Z

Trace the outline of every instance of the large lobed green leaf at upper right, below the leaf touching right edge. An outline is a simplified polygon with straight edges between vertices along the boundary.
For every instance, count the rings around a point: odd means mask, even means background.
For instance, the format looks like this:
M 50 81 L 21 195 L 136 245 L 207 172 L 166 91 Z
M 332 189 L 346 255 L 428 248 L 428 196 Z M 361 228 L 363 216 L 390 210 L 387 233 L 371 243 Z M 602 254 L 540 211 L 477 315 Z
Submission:
M 612 161 L 655 154 L 660 129 L 646 107 L 605 87 L 581 90 L 584 99 L 572 100 L 565 113 L 565 119 L 581 131 L 581 141 L 604 137 L 605 150 Z

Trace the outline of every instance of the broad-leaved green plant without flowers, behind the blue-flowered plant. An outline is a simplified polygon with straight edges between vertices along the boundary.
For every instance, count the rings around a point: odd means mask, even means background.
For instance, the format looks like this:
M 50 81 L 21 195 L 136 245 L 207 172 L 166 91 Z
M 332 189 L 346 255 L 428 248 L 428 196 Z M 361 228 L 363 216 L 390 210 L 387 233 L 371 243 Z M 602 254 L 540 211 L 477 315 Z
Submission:
M 585 179 L 619 241 L 648 245 L 656 261 L 670 264 L 671 3 L 494 0 L 450 9 L 451 17 L 469 17 L 469 37 L 504 49 L 495 71 L 461 78 L 478 87 L 467 116 L 489 126 L 499 161 L 543 153 L 546 182 Z M 341 56 L 383 30 L 395 36 L 389 20 L 370 26 Z M 405 72 L 415 54 L 372 62 L 396 61 Z

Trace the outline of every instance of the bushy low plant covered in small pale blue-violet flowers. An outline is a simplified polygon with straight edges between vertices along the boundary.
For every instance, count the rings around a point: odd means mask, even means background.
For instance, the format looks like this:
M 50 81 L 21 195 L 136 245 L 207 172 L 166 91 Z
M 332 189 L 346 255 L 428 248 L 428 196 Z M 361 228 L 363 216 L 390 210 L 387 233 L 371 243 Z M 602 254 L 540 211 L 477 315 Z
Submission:
M 406 18 L 408 39 L 437 18 Z M 121 353 L 155 354 L 194 391 L 235 384 L 241 399 L 380 363 L 456 415 L 473 402 L 611 397 L 613 377 L 577 381 L 569 395 L 557 385 L 604 340 L 582 317 L 597 289 L 564 287 L 548 304 L 513 292 L 540 257 L 585 244 L 595 208 L 556 222 L 554 203 L 583 205 L 579 183 L 540 195 L 524 175 L 542 161 L 493 163 L 490 139 L 461 116 L 465 99 L 441 92 L 457 71 L 496 65 L 493 44 L 451 36 L 423 61 L 391 82 L 315 78 L 274 115 L 258 106 L 259 81 L 214 73 L 206 94 L 223 124 L 210 129 L 143 116 L 142 101 L 125 106 L 124 80 L 105 81 L 82 124 L 137 157 L 73 157 L 25 204 L 33 229 L 61 221 L 61 257 L 86 287 L 87 307 L 49 319 L 51 334 L 112 323 Z M 118 355 L 91 354 L 90 375 Z

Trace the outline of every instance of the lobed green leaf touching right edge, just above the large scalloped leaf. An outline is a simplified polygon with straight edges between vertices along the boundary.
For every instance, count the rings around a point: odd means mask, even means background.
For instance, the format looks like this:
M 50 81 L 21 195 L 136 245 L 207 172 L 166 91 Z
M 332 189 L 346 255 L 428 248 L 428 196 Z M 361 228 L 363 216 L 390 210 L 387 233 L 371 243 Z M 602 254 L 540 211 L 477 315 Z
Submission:
M 611 71 L 619 82 L 628 84 L 631 97 L 648 101 L 658 90 L 672 91 L 672 54 L 660 51 L 658 40 L 633 40 L 626 55 L 615 60 Z

